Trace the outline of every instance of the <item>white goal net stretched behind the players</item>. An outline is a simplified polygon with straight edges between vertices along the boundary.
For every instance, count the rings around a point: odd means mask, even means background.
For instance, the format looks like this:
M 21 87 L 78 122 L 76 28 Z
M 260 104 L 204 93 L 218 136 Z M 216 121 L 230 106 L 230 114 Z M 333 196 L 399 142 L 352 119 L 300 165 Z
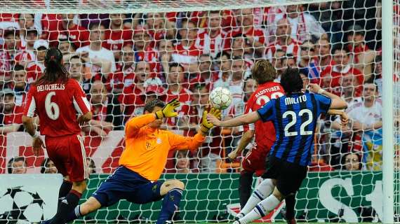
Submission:
M 395 170 L 399 7 L 394 1 L 394 72 L 389 77 L 394 83 Z M 0 223 L 46 220 L 57 207 L 61 178 L 50 175 L 57 169 L 46 151 L 34 156 L 21 120 L 27 91 L 44 72 L 44 52 L 50 47 L 62 51 L 65 68 L 92 105 L 93 120 L 82 128 L 91 168 L 84 200 L 118 167 L 124 125 L 145 112 L 145 103 L 178 97 L 179 116 L 167 119 L 163 128 L 193 136 L 215 87 L 232 92 L 224 119 L 244 113 L 257 89 L 251 68 L 263 58 L 275 66 L 276 81 L 288 66 L 297 67 L 305 89 L 317 83 L 348 104 L 348 127 L 341 129 L 334 116 L 319 119 L 295 217 L 382 221 L 382 101 L 392 97 L 382 95 L 382 15 L 381 1 L 360 0 L 0 1 Z M 39 121 L 36 125 L 40 129 Z M 241 161 L 251 145 L 236 159 L 228 155 L 242 134 L 240 128 L 214 128 L 198 150 L 168 154 L 161 179 L 181 180 L 186 188 L 175 221 L 232 221 L 240 209 Z M 160 207 L 161 202 L 122 200 L 76 223 L 155 221 Z M 283 221 L 284 214 L 283 202 L 262 221 Z

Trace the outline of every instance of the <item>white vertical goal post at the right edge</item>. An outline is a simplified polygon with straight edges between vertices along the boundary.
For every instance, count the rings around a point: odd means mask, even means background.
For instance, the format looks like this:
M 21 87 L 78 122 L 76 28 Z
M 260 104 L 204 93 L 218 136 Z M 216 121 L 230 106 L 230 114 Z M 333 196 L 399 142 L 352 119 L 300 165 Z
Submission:
M 398 1 L 382 1 L 382 96 L 385 97 L 383 103 L 382 114 L 382 132 L 383 132 L 383 158 L 382 163 L 382 184 L 383 184 L 383 223 L 394 222 L 394 185 L 399 188 L 398 183 L 394 182 L 394 110 L 399 110 L 396 103 L 399 101 L 399 95 L 394 94 L 394 89 L 398 88 L 398 84 L 393 84 L 393 74 L 398 71 L 396 64 L 399 63 L 399 55 L 394 52 L 399 50 L 399 40 L 397 31 L 394 29 L 394 21 L 397 16 L 394 14 L 394 6 L 399 6 Z M 396 21 L 398 22 L 398 21 Z M 399 26 L 399 24 L 396 24 Z M 396 31 L 395 31 L 396 30 Z M 394 37 L 394 34 L 396 35 Z M 394 40 L 396 38 L 396 40 Z M 394 44 L 393 44 L 394 43 Z M 396 99 L 396 102 L 394 102 Z M 398 175 L 398 174 L 396 174 Z M 397 192 L 398 194 L 399 192 Z M 398 211 L 397 211 L 398 212 Z

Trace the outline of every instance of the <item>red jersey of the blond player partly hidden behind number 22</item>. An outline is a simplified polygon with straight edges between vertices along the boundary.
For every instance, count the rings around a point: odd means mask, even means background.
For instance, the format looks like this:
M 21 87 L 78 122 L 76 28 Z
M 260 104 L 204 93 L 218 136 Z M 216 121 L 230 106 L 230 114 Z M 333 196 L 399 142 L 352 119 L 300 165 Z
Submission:
M 251 94 L 246 103 L 245 113 L 257 111 L 267 104 L 269 100 L 276 99 L 284 95 L 284 88 L 275 82 L 267 82 L 258 85 L 257 90 Z M 272 122 L 262 123 L 258 120 L 254 124 L 244 125 L 244 132 L 254 130 L 256 148 L 260 151 L 268 151 L 274 144 L 275 128 Z

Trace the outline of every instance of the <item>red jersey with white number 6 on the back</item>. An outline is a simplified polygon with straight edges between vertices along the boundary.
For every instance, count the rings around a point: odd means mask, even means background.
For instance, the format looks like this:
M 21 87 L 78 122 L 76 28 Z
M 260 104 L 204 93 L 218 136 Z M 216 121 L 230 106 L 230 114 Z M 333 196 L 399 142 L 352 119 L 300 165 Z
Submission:
M 80 134 L 76 113 L 85 114 L 91 106 L 79 83 L 69 78 L 44 85 L 32 85 L 25 102 L 24 115 L 40 119 L 41 134 L 62 137 Z

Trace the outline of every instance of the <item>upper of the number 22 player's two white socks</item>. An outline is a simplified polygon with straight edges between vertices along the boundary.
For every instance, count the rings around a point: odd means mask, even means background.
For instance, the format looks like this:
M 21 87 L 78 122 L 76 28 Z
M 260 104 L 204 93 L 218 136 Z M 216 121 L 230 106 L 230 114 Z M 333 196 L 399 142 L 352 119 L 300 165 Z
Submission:
M 261 202 L 262 200 L 265 200 L 266 197 L 271 195 L 272 190 L 274 190 L 275 186 L 272 183 L 271 179 L 265 179 L 262 181 L 253 194 L 251 194 L 250 198 L 247 200 L 246 205 L 241 209 L 240 213 L 246 215 L 248 214 L 251 210 L 254 209 L 254 207 Z

